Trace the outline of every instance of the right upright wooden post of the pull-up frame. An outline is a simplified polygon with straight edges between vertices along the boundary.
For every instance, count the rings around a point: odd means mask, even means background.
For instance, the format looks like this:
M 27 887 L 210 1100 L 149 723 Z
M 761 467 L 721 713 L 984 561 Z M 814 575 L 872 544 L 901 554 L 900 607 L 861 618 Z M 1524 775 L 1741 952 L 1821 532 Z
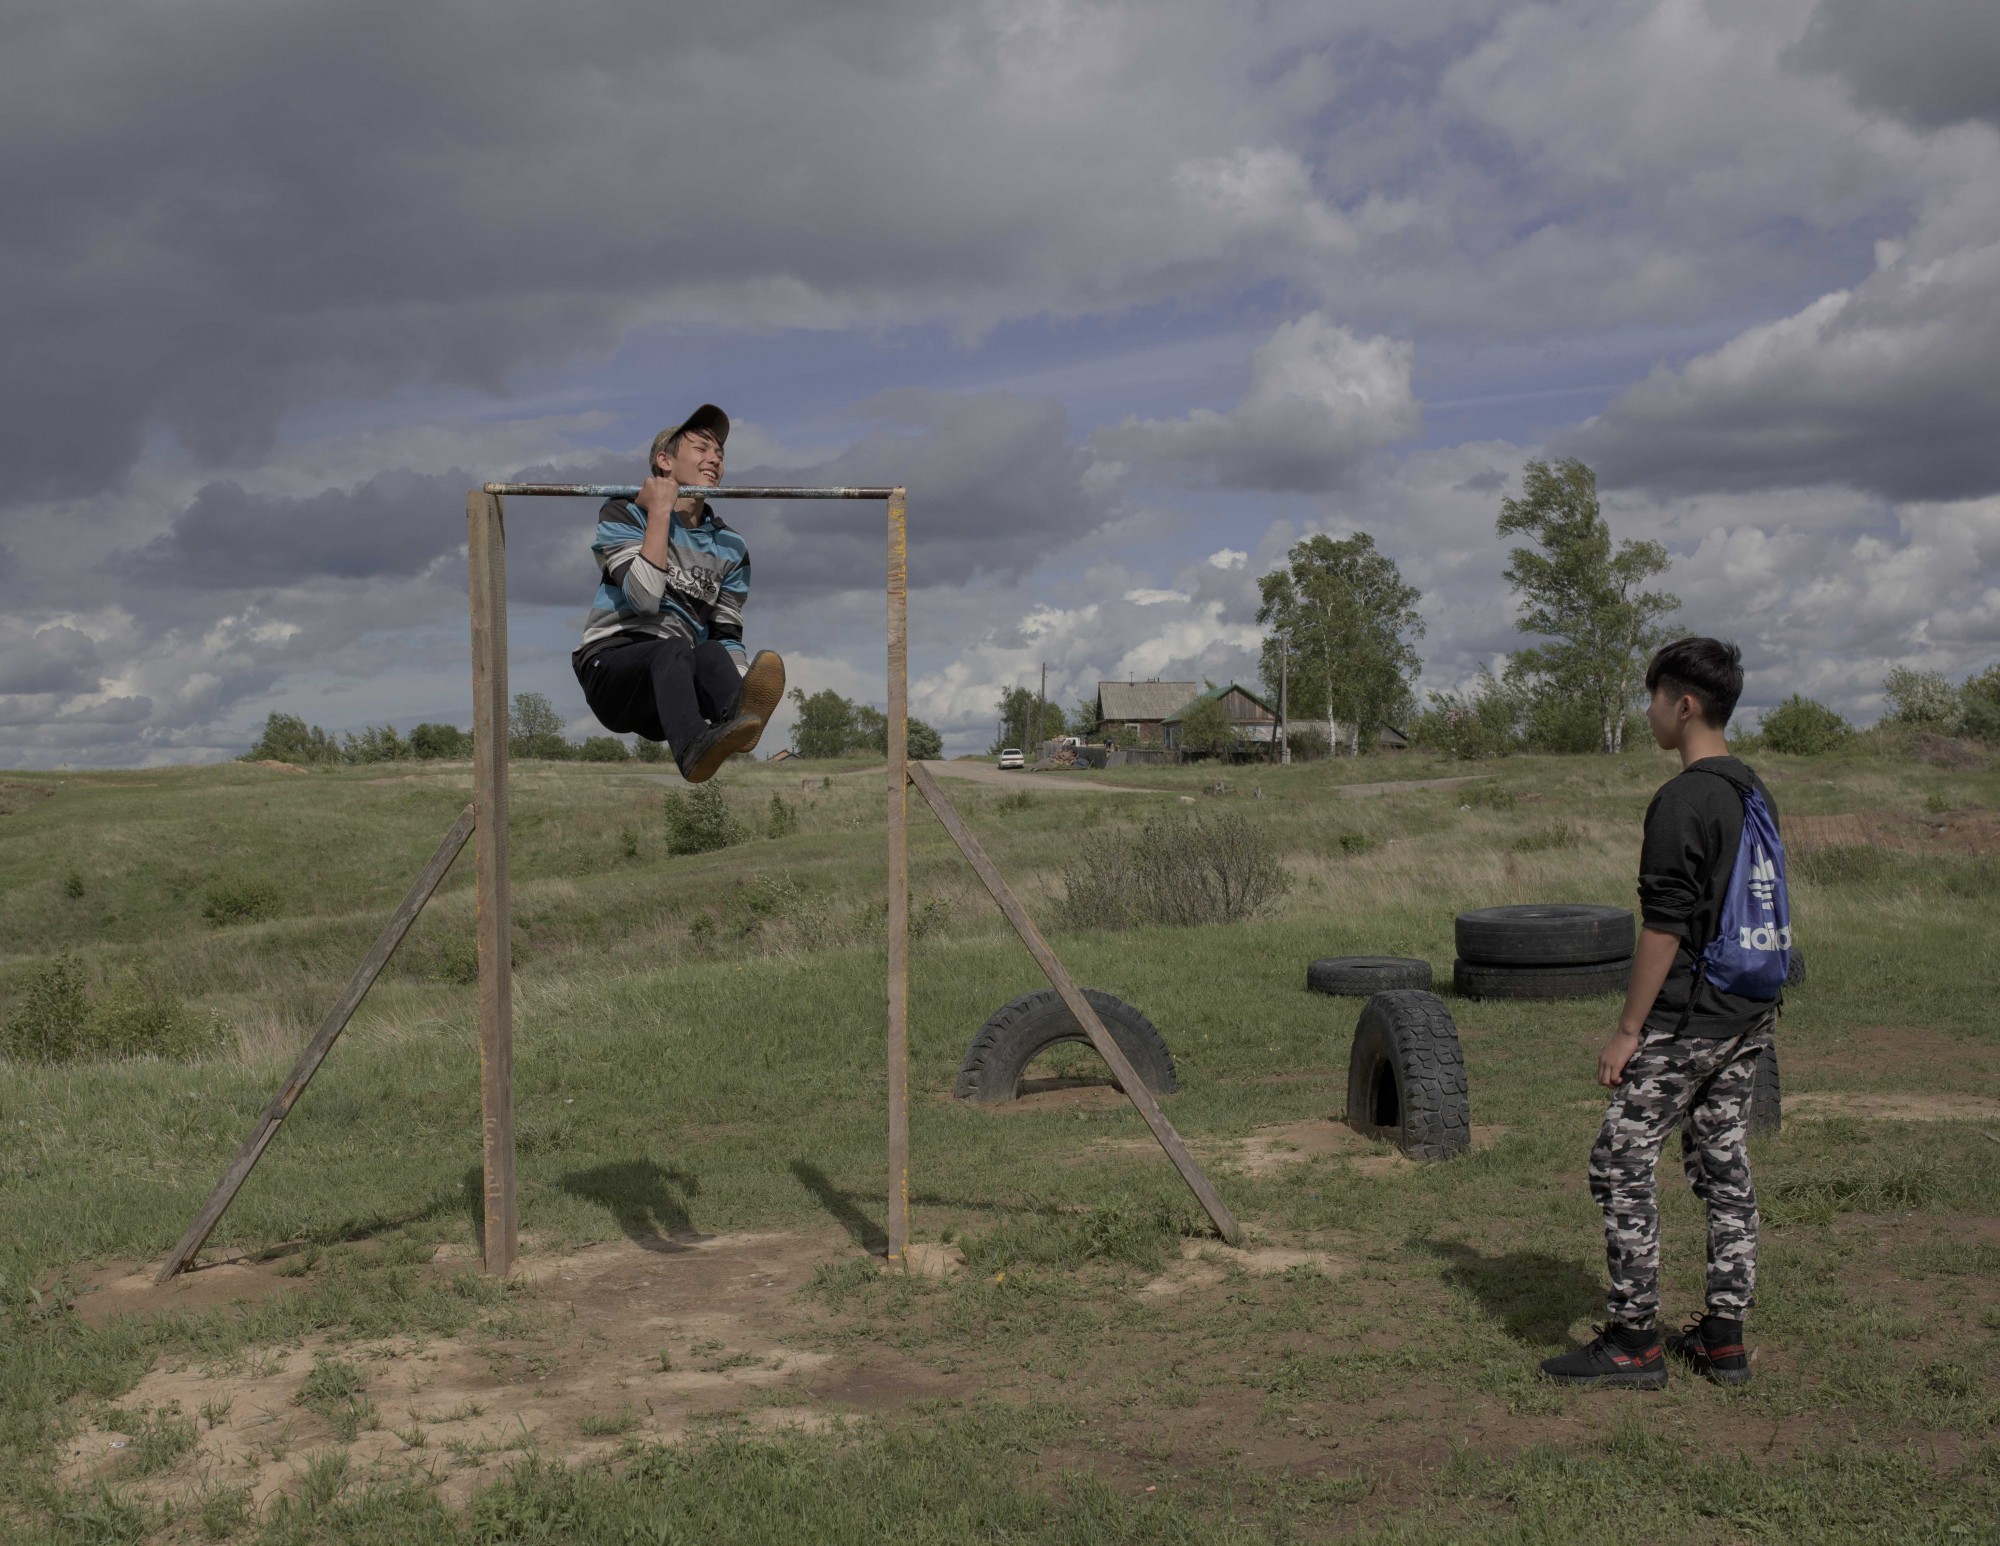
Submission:
M 888 496 L 888 1260 L 910 1250 L 910 624 L 904 492 Z

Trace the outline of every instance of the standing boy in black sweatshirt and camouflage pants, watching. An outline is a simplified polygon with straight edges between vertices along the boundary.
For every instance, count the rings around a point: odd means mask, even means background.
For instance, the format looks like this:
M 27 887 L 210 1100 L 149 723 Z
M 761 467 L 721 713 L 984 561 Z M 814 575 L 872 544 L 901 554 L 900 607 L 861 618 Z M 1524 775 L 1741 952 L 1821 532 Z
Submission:
M 1542 1364 L 1558 1384 L 1658 1390 L 1668 1352 L 1722 1384 L 1750 1378 L 1744 1316 L 1756 1288 L 1758 1214 L 1746 1116 L 1778 1002 L 1724 992 L 1710 980 L 1746 796 L 1762 798 L 1776 828 L 1770 790 L 1722 738 L 1742 686 L 1742 652 L 1714 638 L 1668 644 L 1646 668 L 1646 722 L 1664 750 L 1680 752 L 1682 772 L 1646 810 L 1638 878 L 1644 928 L 1618 1032 L 1598 1056 L 1598 1084 L 1616 1090 L 1590 1150 L 1590 1194 L 1604 1210 L 1610 1320 L 1588 1346 Z M 1770 892 L 1768 868 L 1746 876 L 1752 888 L 1762 884 L 1760 898 Z M 1782 878 L 1782 870 L 1774 874 Z M 1788 944 L 1786 928 L 1778 948 Z M 1708 1208 L 1708 1302 L 1662 1342 L 1654 1166 L 1674 1128 L 1688 1186 Z

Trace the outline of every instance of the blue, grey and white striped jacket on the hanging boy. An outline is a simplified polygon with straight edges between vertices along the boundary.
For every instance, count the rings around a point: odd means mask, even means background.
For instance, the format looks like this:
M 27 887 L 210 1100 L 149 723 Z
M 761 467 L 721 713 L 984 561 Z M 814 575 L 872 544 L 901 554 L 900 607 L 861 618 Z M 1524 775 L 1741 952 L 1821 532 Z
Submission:
M 750 600 L 750 546 L 706 502 L 694 526 L 674 520 L 666 568 L 640 554 L 644 538 L 646 512 L 632 500 L 606 500 L 598 510 L 598 536 L 590 544 L 600 570 L 598 594 L 584 620 L 576 664 L 638 638 L 684 638 L 690 644 L 714 638 L 736 656 L 736 670 L 748 670 L 744 602 Z

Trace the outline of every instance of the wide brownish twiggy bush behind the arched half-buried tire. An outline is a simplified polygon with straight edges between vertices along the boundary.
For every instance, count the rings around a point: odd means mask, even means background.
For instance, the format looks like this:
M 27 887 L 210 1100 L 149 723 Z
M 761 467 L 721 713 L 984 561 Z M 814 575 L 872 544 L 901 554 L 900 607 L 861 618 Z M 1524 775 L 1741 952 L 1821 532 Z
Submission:
M 1226 812 L 1154 814 L 1136 830 L 1088 838 L 1060 878 L 1066 928 L 1234 924 L 1292 886 L 1270 834 Z

